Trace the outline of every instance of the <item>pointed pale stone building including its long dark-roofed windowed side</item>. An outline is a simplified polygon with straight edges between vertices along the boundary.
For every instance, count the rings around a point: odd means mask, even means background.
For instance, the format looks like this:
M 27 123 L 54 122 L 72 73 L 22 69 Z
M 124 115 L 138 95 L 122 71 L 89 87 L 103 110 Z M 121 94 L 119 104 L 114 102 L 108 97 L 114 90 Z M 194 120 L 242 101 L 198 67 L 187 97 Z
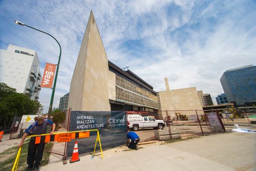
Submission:
M 68 108 L 78 111 L 154 111 L 157 93 L 132 71 L 108 60 L 91 12 L 70 85 Z

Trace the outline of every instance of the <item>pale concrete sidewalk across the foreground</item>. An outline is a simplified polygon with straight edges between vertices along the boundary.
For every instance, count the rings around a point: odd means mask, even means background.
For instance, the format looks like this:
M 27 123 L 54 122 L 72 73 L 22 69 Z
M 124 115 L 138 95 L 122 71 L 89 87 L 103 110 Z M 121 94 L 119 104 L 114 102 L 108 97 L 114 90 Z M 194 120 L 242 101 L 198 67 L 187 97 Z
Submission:
M 248 128 L 248 127 L 247 127 Z M 250 126 L 256 131 L 256 126 Z M 229 132 L 175 143 L 126 146 L 103 151 L 101 156 L 80 156 L 63 165 L 61 156 L 51 155 L 40 170 L 256 170 L 256 134 Z M 79 146 L 78 146 L 79 151 Z M 99 154 L 99 153 L 98 153 Z

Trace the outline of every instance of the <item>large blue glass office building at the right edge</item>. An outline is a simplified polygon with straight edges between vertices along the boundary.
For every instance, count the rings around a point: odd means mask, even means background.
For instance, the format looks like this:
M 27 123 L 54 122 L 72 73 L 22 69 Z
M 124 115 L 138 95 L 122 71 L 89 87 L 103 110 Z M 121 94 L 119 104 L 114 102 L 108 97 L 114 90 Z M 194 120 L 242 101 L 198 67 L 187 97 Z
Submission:
M 256 66 L 227 70 L 220 81 L 228 102 L 241 105 L 256 101 Z

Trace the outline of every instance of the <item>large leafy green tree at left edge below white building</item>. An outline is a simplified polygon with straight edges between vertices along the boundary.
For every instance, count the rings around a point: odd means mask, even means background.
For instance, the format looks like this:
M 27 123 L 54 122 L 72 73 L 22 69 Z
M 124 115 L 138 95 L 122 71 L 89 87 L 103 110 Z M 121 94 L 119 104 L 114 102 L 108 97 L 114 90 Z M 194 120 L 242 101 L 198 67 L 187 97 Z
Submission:
M 42 105 L 23 93 L 17 93 L 5 83 L 0 83 L 0 125 L 11 127 L 15 115 L 34 115 Z

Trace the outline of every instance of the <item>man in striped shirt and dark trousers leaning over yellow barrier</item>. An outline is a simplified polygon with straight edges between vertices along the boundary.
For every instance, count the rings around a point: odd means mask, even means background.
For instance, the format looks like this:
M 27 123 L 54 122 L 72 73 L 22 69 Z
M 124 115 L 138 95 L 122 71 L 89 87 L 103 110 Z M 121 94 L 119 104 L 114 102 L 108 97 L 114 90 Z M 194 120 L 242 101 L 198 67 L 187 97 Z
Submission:
M 44 117 L 39 117 L 37 121 L 32 123 L 28 127 L 28 129 L 25 131 L 25 134 L 23 135 L 22 140 L 18 144 L 18 147 L 20 148 L 23 146 L 24 140 L 26 139 L 29 133 L 31 133 L 31 135 L 46 134 L 47 125 L 52 125 L 52 131 L 50 135 L 53 135 L 53 132 L 55 130 L 55 123 L 45 119 Z M 45 143 L 35 144 L 35 137 L 31 137 L 29 141 L 29 147 L 28 147 L 27 170 L 33 170 L 33 166 L 34 166 L 34 170 L 39 170 L 39 164 L 42 160 L 44 147 L 45 147 Z

